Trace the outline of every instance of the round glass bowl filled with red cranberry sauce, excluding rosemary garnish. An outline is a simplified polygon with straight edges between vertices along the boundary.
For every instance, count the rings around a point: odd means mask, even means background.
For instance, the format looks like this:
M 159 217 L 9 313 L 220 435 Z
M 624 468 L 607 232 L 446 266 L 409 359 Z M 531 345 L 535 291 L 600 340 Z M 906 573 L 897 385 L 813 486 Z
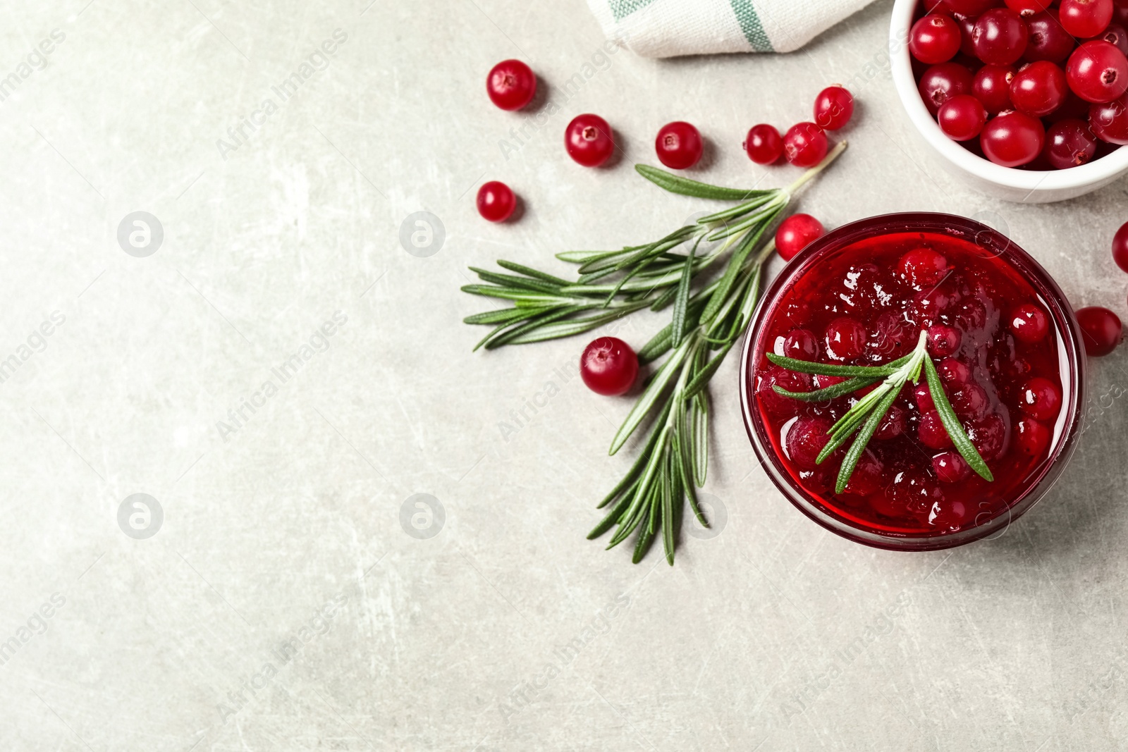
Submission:
M 836 494 L 852 441 L 814 459 L 865 390 L 822 402 L 783 397 L 773 386 L 810 391 L 836 381 L 783 369 L 766 353 L 878 365 L 911 352 L 922 330 L 994 480 L 960 461 L 922 375 Z M 934 550 L 999 533 L 1049 490 L 1077 442 L 1084 368 L 1069 302 L 1005 236 L 948 214 L 887 214 L 816 240 L 775 278 L 744 340 L 740 397 L 760 463 L 803 513 L 857 542 Z

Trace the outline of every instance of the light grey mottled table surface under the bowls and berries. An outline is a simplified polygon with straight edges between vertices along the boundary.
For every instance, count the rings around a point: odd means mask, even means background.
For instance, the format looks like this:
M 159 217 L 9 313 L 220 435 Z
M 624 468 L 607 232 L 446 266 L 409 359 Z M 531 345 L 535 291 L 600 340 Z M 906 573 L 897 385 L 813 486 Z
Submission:
M 483 331 L 460 319 L 488 306 L 458 291 L 468 265 L 552 267 L 700 211 L 632 169 L 671 120 L 712 144 L 694 176 L 784 185 L 796 171 L 752 165 L 743 133 L 807 118 L 844 80 L 851 148 L 797 204 L 828 225 L 994 213 L 1075 306 L 1123 316 L 1108 246 L 1125 183 L 1022 206 L 948 177 L 882 71 L 888 1 L 790 55 L 618 52 L 571 95 L 602 43 L 581 0 L 367 3 L 5 6 L 0 747 L 1125 744 L 1122 350 L 1092 363 L 1095 418 L 1052 493 L 997 540 L 923 555 L 848 542 L 783 499 L 733 357 L 706 485 L 726 521 L 686 536 L 673 568 L 656 550 L 632 566 L 584 539 L 631 459 L 606 455 L 629 401 L 575 378 L 585 338 L 472 353 Z M 273 87 L 335 29 L 283 100 Z M 510 56 L 559 107 L 539 126 L 483 91 Z M 613 168 L 565 156 L 581 112 L 619 134 Z M 519 221 L 477 216 L 485 179 L 520 194 Z M 117 237 L 135 211 L 164 231 L 144 257 Z M 429 257 L 398 240 L 417 211 L 446 230 Z M 618 333 L 640 345 L 662 320 Z M 272 370 L 293 357 L 296 375 Z M 159 524 L 129 506 L 120 524 L 133 494 Z M 415 494 L 441 525 L 412 523 Z

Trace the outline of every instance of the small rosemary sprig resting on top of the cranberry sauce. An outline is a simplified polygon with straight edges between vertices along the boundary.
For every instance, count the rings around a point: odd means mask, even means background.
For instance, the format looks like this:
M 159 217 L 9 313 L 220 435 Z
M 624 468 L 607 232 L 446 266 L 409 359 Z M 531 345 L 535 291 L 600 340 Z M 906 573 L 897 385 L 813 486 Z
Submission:
M 846 457 L 843 459 L 841 467 L 838 470 L 838 480 L 835 484 L 836 494 L 840 494 L 846 489 L 846 484 L 849 481 L 851 475 L 854 474 L 854 468 L 857 467 L 858 460 L 862 459 L 866 444 L 870 443 L 873 434 L 878 431 L 878 426 L 881 425 L 881 421 L 885 417 L 897 396 L 901 393 L 905 383 L 908 381 L 919 383 L 922 370 L 928 383 L 932 401 L 940 414 L 941 423 L 943 423 L 944 430 L 948 431 L 948 435 L 952 437 L 952 443 L 955 445 L 957 451 L 960 452 L 968 465 L 980 477 L 986 480 L 995 479 L 987 463 L 984 462 L 984 459 L 976 450 L 975 444 L 971 443 L 968 434 L 963 431 L 960 418 L 955 415 L 955 410 L 952 409 L 952 404 L 949 401 L 948 395 L 944 393 L 944 387 L 940 382 L 940 374 L 936 373 L 936 365 L 932 362 L 932 357 L 928 356 L 927 331 L 920 333 L 917 345 L 911 353 L 884 365 L 811 363 L 792 357 L 783 357 L 775 353 L 768 353 L 767 357 L 776 365 L 801 373 L 851 377 L 841 383 L 807 392 L 793 392 L 782 389 L 778 386 L 773 387 L 777 393 L 793 399 L 804 401 L 832 399 L 848 395 L 862 387 L 867 387 L 879 380 L 881 381 L 875 389 L 862 397 L 845 415 L 830 426 L 830 430 L 827 432 L 830 440 L 816 459 L 816 463 L 821 465 L 823 460 L 845 444 L 854 432 L 857 432 L 857 436 L 846 452 Z

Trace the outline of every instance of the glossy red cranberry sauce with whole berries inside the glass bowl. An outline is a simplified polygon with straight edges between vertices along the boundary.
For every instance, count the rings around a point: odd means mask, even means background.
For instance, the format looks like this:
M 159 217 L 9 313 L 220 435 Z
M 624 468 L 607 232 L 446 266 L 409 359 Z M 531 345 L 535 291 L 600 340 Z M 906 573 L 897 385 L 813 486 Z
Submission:
M 822 363 L 885 363 L 927 330 L 949 400 L 995 478 L 980 478 L 953 449 L 922 375 L 905 386 L 845 492 L 835 494 L 853 440 L 814 460 L 827 431 L 866 390 L 823 402 L 790 399 L 772 387 L 810 391 L 843 379 L 786 371 L 761 356 L 750 386 L 773 449 L 828 513 L 881 534 L 951 533 L 985 523 L 1037 481 L 1063 405 L 1058 333 L 1006 260 L 934 232 L 866 238 L 795 280 L 768 316 L 764 350 Z

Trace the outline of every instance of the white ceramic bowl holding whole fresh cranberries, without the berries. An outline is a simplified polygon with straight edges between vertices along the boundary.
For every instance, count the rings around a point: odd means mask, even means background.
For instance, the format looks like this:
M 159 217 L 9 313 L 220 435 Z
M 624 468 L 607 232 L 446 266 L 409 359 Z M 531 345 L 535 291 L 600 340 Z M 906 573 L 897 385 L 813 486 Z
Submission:
M 893 85 L 913 125 L 936 151 L 941 163 L 950 172 L 986 194 L 1006 201 L 1040 204 L 1083 196 L 1128 171 L 1128 149 L 1117 149 L 1107 157 L 1067 170 L 1019 170 L 977 157 L 944 135 L 936 120 L 924 106 L 913 78 L 908 38 L 916 6 L 917 0 L 897 0 L 893 3 L 893 20 L 889 29 Z

